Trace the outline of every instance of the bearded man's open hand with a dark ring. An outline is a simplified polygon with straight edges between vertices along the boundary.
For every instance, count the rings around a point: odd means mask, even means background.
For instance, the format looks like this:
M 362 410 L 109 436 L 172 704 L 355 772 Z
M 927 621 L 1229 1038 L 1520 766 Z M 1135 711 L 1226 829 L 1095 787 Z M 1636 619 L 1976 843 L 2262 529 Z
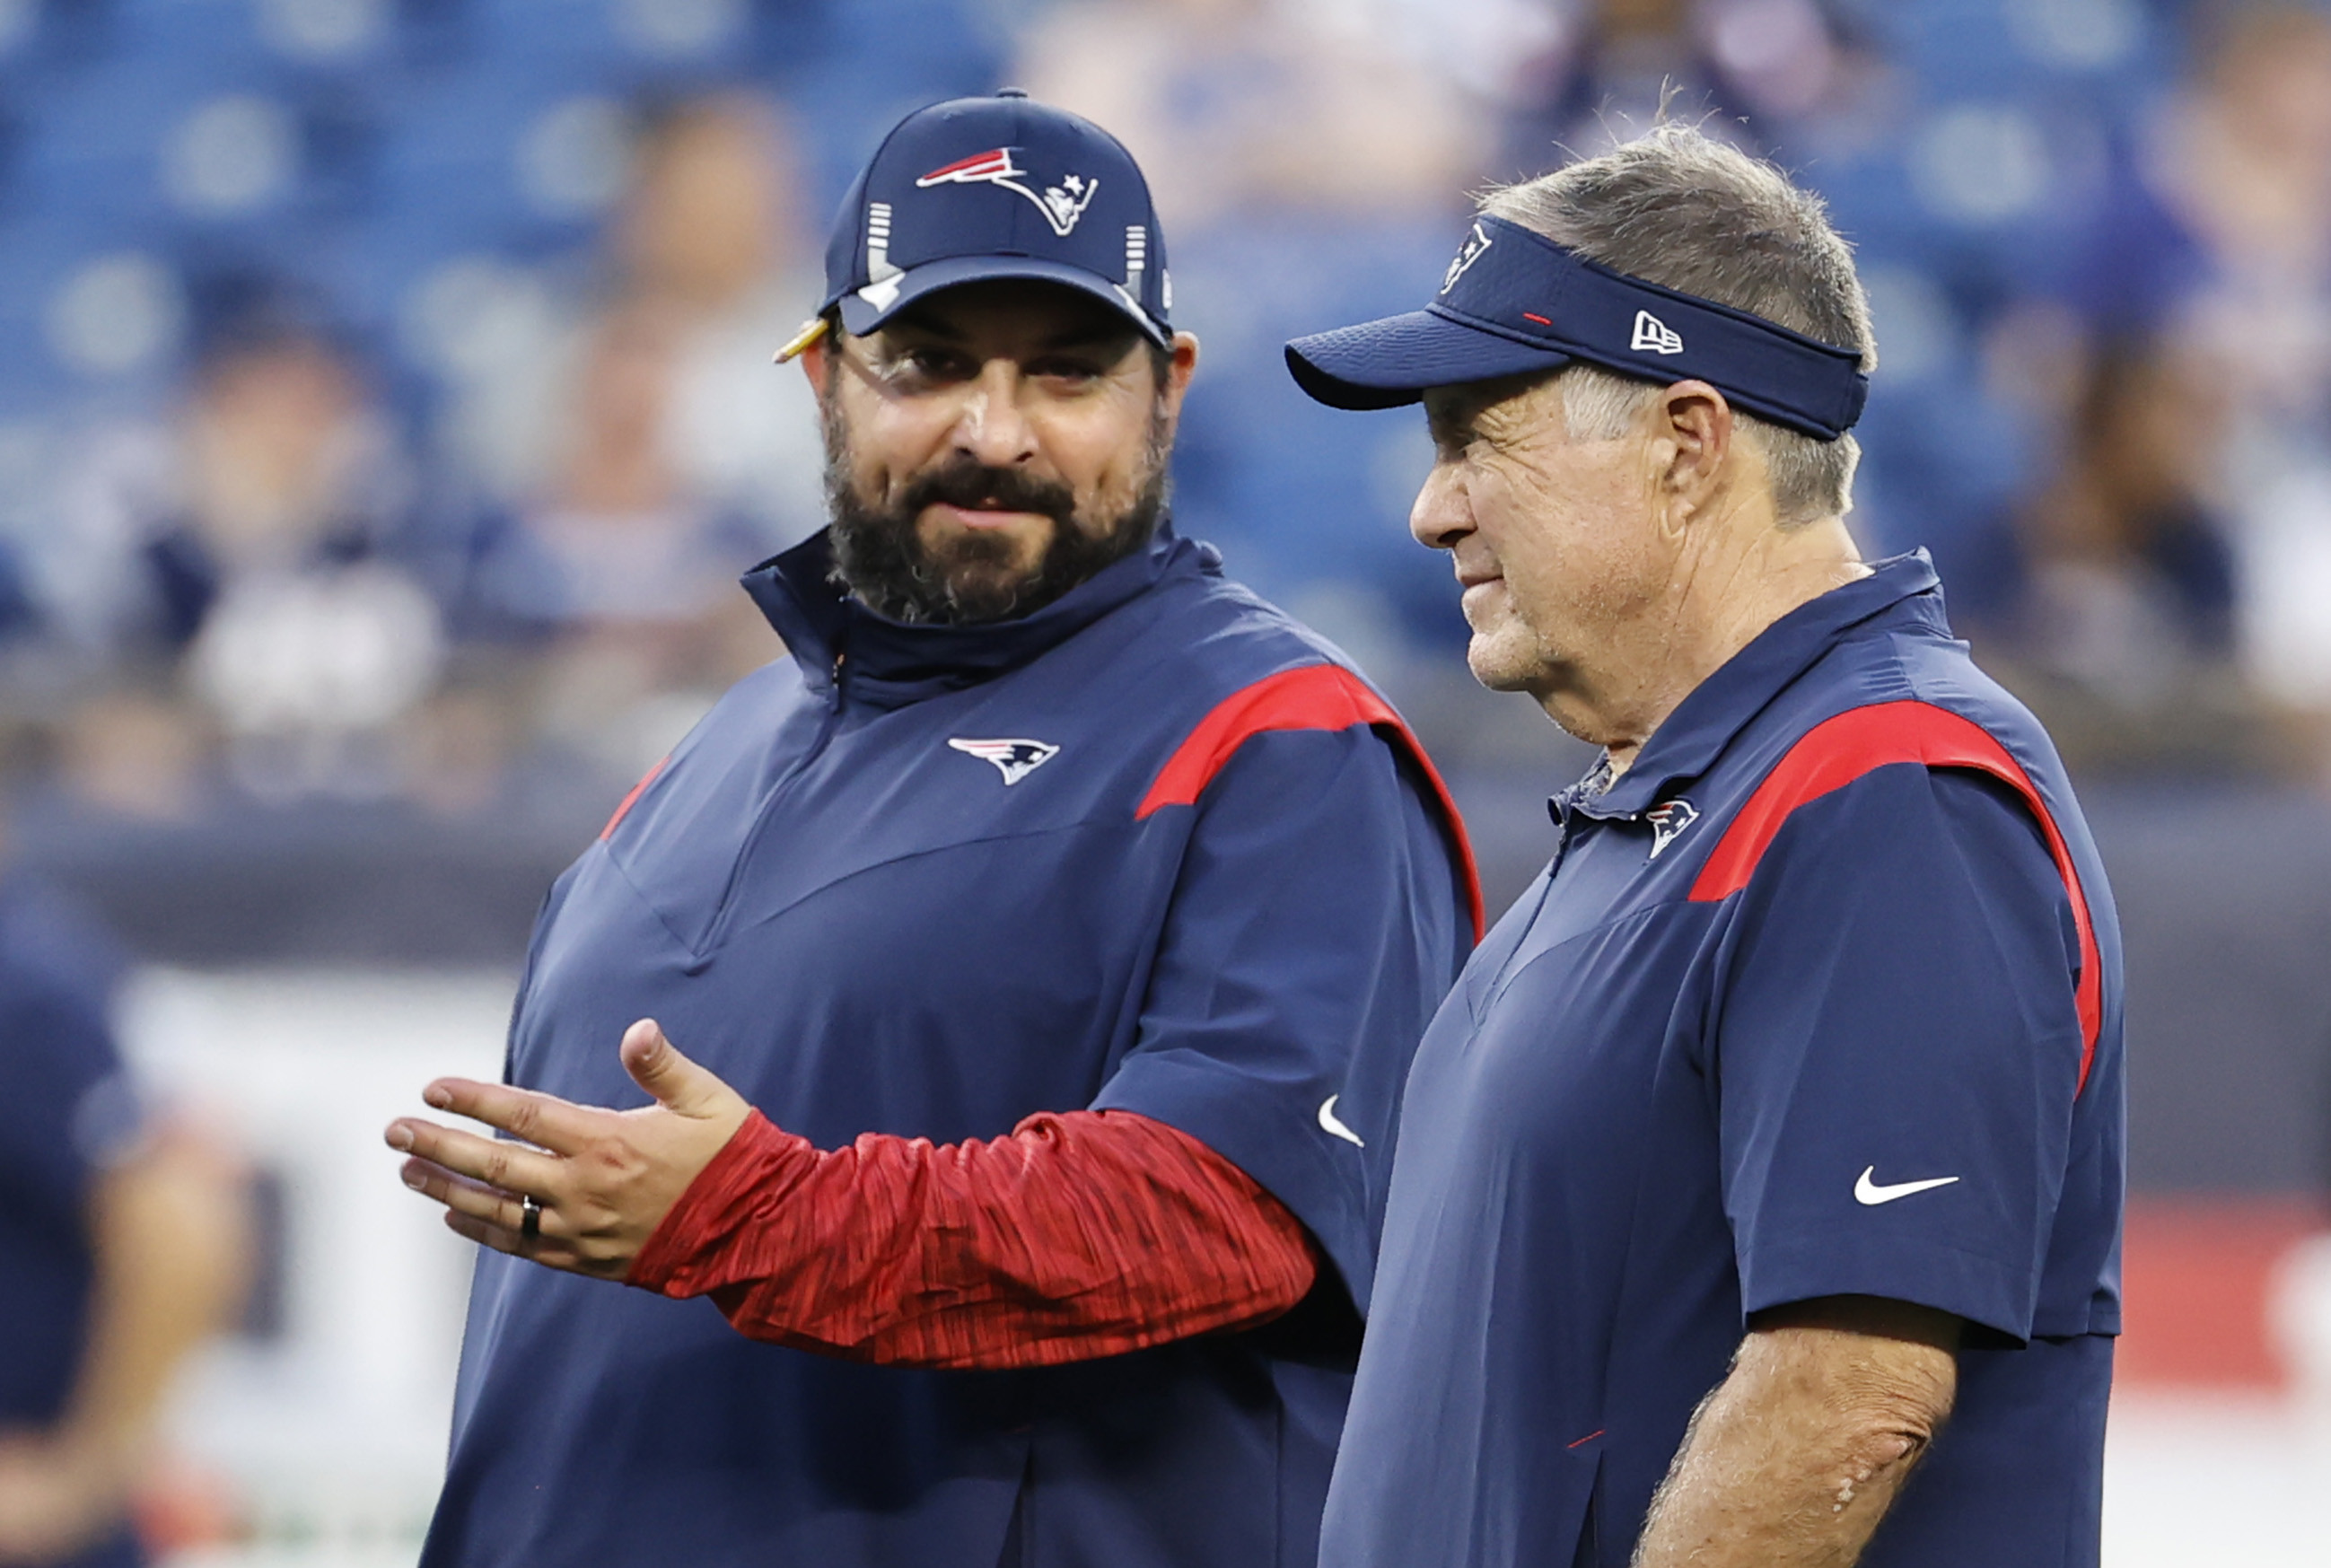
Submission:
M 471 1242 L 622 1279 L 753 1107 L 681 1055 L 653 1018 L 625 1030 L 618 1051 L 655 1104 L 608 1111 L 506 1083 L 438 1079 L 422 1100 L 517 1142 L 401 1116 L 389 1123 L 387 1142 L 413 1156 L 403 1165 L 406 1186 L 445 1205 L 445 1223 Z M 534 1228 L 527 1198 L 541 1205 Z

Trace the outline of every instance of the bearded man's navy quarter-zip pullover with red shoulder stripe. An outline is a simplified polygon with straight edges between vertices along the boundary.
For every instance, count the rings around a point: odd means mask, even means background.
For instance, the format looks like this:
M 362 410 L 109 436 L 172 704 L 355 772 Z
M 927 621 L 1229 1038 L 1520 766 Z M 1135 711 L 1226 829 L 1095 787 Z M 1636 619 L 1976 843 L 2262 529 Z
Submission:
M 1310 1561 L 1408 1060 L 1469 860 L 1343 657 L 1161 534 L 1035 615 L 904 627 L 825 538 L 783 636 L 557 883 L 508 1079 L 641 1104 L 660 1018 L 818 1146 L 1140 1111 L 1310 1230 L 1289 1319 L 1026 1372 L 821 1358 L 485 1253 L 424 1563 Z

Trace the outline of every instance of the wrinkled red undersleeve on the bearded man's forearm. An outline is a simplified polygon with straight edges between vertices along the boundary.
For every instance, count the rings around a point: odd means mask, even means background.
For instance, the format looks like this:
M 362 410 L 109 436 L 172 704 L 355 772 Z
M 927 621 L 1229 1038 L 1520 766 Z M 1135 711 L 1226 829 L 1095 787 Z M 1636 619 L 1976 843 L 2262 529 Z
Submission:
M 1131 1111 L 818 1151 L 755 1111 L 632 1260 L 753 1340 L 911 1368 L 1033 1368 L 1249 1328 L 1310 1291 L 1287 1207 Z

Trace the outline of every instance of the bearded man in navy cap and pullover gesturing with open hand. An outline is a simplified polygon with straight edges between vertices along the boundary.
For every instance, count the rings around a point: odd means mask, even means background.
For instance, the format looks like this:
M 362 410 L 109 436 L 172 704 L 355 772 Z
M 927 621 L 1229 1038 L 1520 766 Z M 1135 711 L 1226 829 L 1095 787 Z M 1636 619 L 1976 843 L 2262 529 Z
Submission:
M 389 1128 L 492 1249 L 427 1563 L 1317 1549 L 1478 892 L 1392 708 L 1166 520 L 1168 294 L 1133 158 L 1016 93 L 844 203 L 832 529 L 746 578 L 790 657 L 552 890 L 508 1081 L 429 1086 L 510 1139 Z

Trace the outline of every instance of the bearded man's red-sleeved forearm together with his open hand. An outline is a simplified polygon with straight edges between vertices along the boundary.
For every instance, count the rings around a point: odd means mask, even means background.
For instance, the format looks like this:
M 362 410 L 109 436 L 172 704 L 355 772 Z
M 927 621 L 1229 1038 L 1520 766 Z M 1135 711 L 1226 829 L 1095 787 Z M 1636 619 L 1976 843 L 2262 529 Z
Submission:
M 932 1146 L 818 1151 L 746 1109 L 655 1025 L 625 1062 L 660 1104 L 604 1111 L 448 1079 L 431 1104 L 538 1149 L 401 1121 L 406 1179 L 462 1235 L 550 1267 L 713 1295 L 746 1335 L 925 1368 L 1114 1356 L 1273 1319 L 1310 1291 L 1303 1226 L 1147 1116 L 1030 1116 Z M 524 1235 L 520 1193 L 541 1200 Z

